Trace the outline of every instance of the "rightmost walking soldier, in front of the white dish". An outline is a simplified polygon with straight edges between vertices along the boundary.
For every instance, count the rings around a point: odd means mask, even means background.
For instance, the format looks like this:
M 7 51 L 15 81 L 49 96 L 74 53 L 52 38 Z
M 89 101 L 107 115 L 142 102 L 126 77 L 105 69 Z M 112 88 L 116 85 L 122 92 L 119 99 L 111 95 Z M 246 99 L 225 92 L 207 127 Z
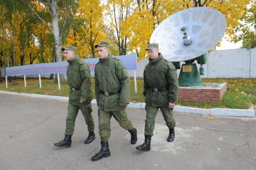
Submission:
M 177 73 L 172 62 L 164 59 L 159 53 L 157 43 L 148 44 L 149 63 L 144 70 L 145 110 L 145 142 L 136 147 L 137 150 L 149 151 L 151 136 L 153 136 L 154 121 L 160 108 L 165 123 L 169 128 L 168 142 L 174 141 L 175 120 L 172 109 L 178 94 Z

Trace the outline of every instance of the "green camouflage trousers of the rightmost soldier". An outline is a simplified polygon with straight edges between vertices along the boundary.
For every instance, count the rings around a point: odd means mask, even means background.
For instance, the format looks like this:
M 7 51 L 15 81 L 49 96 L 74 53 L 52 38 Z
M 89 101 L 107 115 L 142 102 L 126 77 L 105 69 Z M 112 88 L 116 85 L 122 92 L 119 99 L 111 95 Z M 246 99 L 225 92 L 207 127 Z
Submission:
M 165 119 L 165 123 L 169 128 L 175 127 L 175 120 L 172 116 L 172 111 L 168 106 L 159 106 L 153 107 L 150 105 L 145 106 L 145 110 L 147 112 L 146 120 L 145 120 L 145 135 L 153 136 L 154 131 L 154 121 L 156 120 L 156 114 L 160 108 L 160 111 L 163 114 L 163 118 Z

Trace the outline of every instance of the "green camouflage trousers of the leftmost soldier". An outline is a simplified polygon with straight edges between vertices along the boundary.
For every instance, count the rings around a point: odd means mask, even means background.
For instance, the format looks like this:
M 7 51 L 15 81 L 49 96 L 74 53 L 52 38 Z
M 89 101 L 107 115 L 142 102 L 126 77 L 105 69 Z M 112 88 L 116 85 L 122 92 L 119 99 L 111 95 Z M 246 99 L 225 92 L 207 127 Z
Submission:
M 67 112 L 66 118 L 66 135 L 73 135 L 76 117 L 78 115 L 79 109 L 81 110 L 82 114 L 84 115 L 85 123 L 88 127 L 88 132 L 94 132 L 94 121 L 91 115 L 93 111 L 91 109 L 91 103 L 88 105 L 71 105 L 69 104 L 69 109 Z

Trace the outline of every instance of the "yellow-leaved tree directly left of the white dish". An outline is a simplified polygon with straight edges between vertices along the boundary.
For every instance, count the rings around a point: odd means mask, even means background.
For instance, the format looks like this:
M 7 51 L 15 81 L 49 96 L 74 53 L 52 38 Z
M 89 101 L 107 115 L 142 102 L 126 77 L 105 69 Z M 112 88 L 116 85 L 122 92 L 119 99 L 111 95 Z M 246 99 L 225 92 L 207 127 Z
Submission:
M 183 2 L 178 1 L 144 1 L 137 0 L 133 13 L 121 25 L 130 43 L 128 49 L 137 53 L 138 61 L 144 58 L 145 48 L 150 41 L 151 34 L 163 19 L 169 16 L 166 7 L 172 7 L 172 13 L 182 8 Z M 170 10 L 170 9 L 169 9 Z

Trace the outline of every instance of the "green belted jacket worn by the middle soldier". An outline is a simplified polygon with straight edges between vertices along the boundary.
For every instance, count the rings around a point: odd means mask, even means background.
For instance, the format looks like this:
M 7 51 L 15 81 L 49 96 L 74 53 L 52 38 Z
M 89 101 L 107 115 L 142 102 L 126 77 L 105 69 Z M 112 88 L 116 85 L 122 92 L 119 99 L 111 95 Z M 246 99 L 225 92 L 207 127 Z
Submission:
M 103 111 L 120 111 L 130 100 L 130 79 L 126 68 L 117 58 L 108 55 L 95 67 L 95 93 Z M 106 96 L 104 93 L 117 93 Z M 124 103 L 120 106 L 119 103 Z

